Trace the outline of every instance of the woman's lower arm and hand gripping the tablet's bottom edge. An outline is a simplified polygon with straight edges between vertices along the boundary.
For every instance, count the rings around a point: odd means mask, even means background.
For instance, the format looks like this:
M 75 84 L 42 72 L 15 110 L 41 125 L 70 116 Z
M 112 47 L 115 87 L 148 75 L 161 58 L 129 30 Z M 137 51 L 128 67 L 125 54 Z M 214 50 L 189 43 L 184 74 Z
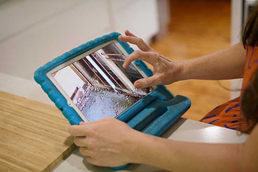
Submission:
M 210 144 L 173 141 L 131 129 L 114 118 L 72 125 L 69 133 L 99 166 L 147 164 L 168 171 L 257 171 L 258 125 L 243 144 Z

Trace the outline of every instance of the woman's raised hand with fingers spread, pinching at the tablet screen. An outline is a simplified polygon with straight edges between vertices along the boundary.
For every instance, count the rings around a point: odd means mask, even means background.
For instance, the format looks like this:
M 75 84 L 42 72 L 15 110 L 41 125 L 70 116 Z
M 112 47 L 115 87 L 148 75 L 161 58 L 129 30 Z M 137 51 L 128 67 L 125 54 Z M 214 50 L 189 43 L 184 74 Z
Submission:
M 125 31 L 126 36 L 119 36 L 122 42 L 129 42 L 135 44 L 142 51 L 134 51 L 131 53 L 123 64 L 127 68 L 129 64 L 136 60 L 144 60 L 153 66 L 153 76 L 142 78 L 135 81 L 135 88 L 147 88 L 155 85 L 167 85 L 176 82 L 180 79 L 183 72 L 182 63 L 174 62 L 167 57 L 164 57 L 150 46 L 148 46 L 141 38 L 136 37 L 129 31 Z

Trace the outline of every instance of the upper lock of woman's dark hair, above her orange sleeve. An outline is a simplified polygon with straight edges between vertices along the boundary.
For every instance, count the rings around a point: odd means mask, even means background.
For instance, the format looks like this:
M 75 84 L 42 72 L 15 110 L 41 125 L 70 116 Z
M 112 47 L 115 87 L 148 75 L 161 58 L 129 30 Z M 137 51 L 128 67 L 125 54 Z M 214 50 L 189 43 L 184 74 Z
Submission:
M 251 9 L 245 27 L 242 30 L 244 48 L 255 46 L 258 41 L 258 3 Z

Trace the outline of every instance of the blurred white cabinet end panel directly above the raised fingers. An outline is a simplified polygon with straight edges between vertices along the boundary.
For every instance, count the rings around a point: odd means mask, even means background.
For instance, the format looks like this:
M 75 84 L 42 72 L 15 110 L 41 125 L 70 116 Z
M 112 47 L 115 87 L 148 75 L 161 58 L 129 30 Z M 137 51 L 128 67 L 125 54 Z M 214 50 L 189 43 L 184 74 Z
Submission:
M 124 34 L 128 29 L 146 42 L 159 31 L 158 7 L 156 1 L 111 0 L 114 31 Z M 135 48 L 135 47 L 133 47 Z

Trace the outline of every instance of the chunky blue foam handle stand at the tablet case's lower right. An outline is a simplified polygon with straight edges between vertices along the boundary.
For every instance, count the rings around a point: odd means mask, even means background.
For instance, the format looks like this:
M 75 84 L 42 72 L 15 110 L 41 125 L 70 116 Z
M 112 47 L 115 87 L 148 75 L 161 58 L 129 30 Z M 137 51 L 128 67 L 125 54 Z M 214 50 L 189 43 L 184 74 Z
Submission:
M 157 118 L 157 120 L 149 125 L 143 133 L 160 136 L 174 124 L 190 108 L 190 106 L 190 99 L 182 95 L 177 95 L 168 101 L 155 100 L 126 123 L 133 129 L 140 131 Z M 129 164 L 112 168 L 121 169 L 128 165 Z

